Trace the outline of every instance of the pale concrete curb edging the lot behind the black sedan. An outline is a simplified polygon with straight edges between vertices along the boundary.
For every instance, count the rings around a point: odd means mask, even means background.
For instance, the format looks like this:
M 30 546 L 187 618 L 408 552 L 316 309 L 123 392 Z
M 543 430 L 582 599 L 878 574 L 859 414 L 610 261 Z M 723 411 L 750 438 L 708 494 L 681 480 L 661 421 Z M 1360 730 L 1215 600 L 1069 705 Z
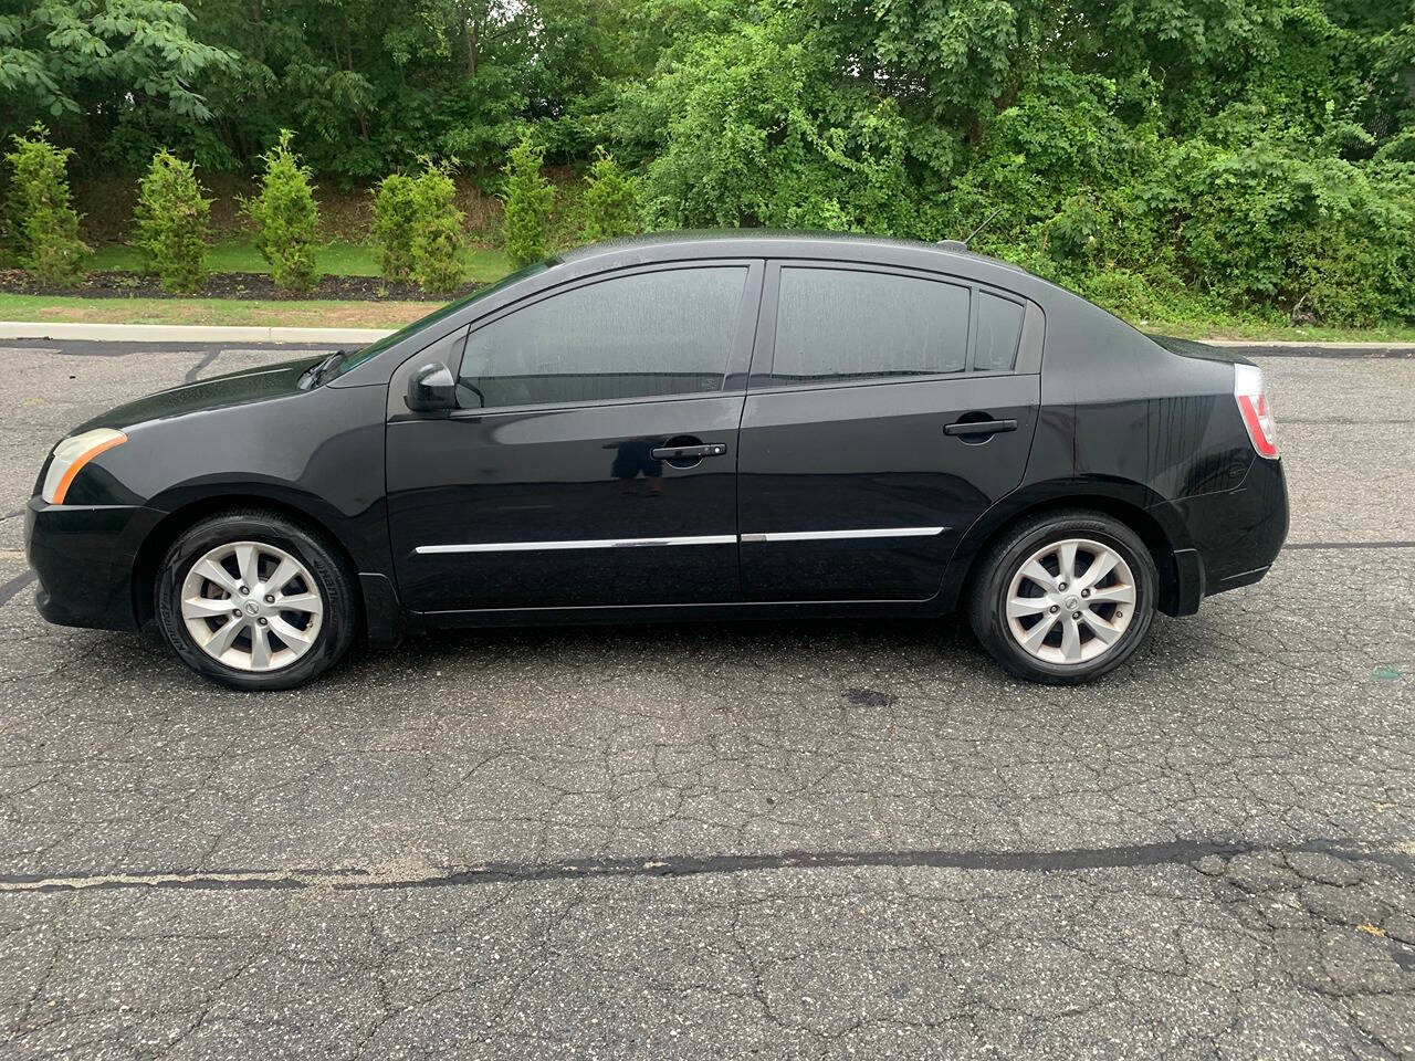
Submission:
M 83 340 L 88 342 L 375 342 L 392 328 L 246 328 L 185 324 L 69 324 L 0 321 L 0 340 Z M 1309 340 L 1201 340 L 1211 347 L 1295 349 L 1409 349 L 1415 342 L 1317 342 Z

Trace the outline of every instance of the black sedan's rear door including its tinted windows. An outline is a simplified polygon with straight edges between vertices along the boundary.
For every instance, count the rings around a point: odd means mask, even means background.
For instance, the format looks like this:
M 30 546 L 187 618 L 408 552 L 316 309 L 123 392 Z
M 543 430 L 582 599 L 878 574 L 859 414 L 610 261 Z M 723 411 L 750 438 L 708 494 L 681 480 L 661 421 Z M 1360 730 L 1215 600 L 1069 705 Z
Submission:
M 1022 481 L 1041 330 L 1039 307 L 968 280 L 770 265 L 739 443 L 744 598 L 935 596 Z

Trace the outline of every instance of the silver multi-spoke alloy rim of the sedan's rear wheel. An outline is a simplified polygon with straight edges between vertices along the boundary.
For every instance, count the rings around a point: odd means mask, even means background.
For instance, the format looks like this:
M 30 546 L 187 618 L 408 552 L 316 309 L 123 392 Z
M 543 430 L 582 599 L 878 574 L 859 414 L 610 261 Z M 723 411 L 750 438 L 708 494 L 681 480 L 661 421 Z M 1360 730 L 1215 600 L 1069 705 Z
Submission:
M 1135 576 L 1111 546 L 1067 538 L 1029 556 L 1007 587 L 1007 630 L 1047 663 L 1105 655 L 1135 618 Z

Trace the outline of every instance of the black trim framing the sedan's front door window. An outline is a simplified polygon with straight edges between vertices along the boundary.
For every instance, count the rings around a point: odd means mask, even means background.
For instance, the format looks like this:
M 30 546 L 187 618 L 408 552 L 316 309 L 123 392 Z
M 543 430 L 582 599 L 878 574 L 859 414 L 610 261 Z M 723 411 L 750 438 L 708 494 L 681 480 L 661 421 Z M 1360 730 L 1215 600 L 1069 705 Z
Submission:
M 603 399 L 589 399 L 583 402 L 524 402 L 521 405 L 498 405 L 485 409 L 453 409 L 446 413 L 450 419 L 464 420 L 468 417 L 478 416 L 494 416 L 501 412 L 526 412 L 526 410 L 541 410 L 553 412 L 559 409 L 586 409 L 596 406 L 621 406 L 621 405 L 641 405 L 645 402 L 675 402 L 691 398 L 732 398 L 734 395 L 746 393 L 747 381 L 747 365 L 751 359 L 751 340 L 756 330 L 757 313 L 761 303 L 761 277 L 766 270 L 766 259 L 761 257 L 705 257 L 705 259 L 679 259 L 674 262 L 652 262 L 648 265 L 633 265 L 624 266 L 621 269 L 611 269 L 603 273 L 594 273 L 593 276 L 582 276 L 574 280 L 567 280 L 563 284 L 556 284 L 555 287 L 548 287 L 542 291 L 535 291 L 528 294 L 525 298 L 519 298 L 508 306 L 504 306 L 494 313 L 487 314 L 481 320 L 473 321 L 466 327 L 467 340 L 471 338 L 477 331 L 497 321 L 509 317 L 512 313 L 525 310 L 536 303 L 552 298 L 558 294 L 566 294 L 582 287 L 591 287 L 599 283 L 606 283 L 608 280 L 618 280 L 625 276 L 640 276 L 647 273 L 678 273 L 689 269 L 722 269 L 734 267 L 744 269 L 747 276 L 743 279 L 741 287 L 741 303 L 737 306 L 737 324 L 732 335 L 727 348 L 727 358 L 723 366 L 723 382 L 717 390 L 692 390 L 681 395 L 635 395 L 631 398 L 603 398 Z M 434 344 L 429 344 L 434 345 Z M 423 348 L 426 349 L 426 347 Z M 464 347 L 466 349 L 466 347 Z M 389 412 L 391 420 L 405 420 L 405 419 L 424 419 L 420 416 L 403 416 L 395 406 L 402 405 L 400 398 L 398 398 L 393 390 L 398 388 L 399 379 L 403 375 L 402 369 L 412 361 L 420 356 L 422 351 L 409 356 L 399 371 L 395 372 L 395 379 L 389 385 Z M 457 365 L 447 366 L 453 376 L 458 381 L 461 379 L 460 369 L 461 362 L 458 359 Z M 406 412 L 406 410 L 405 410 Z

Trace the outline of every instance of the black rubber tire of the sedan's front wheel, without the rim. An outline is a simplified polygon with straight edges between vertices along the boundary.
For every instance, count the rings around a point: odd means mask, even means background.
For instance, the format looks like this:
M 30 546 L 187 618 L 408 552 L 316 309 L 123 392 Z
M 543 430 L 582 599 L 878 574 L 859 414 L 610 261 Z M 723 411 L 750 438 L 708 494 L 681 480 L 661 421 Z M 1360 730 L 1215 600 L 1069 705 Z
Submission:
M 231 542 L 260 542 L 284 550 L 304 564 L 323 598 L 321 624 L 313 644 L 286 666 L 273 671 L 228 666 L 208 655 L 187 628 L 181 614 L 183 581 L 202 556 Z M 204 678 L 232 689 L 293 689 L 311 682 L 344 656 L 359 628 L 354 574 L 338 549 L 321 533 L 265 509 L 222 512 L 184 530 L 163 556 L 154 594 L 157 627 L 177 656 Z

